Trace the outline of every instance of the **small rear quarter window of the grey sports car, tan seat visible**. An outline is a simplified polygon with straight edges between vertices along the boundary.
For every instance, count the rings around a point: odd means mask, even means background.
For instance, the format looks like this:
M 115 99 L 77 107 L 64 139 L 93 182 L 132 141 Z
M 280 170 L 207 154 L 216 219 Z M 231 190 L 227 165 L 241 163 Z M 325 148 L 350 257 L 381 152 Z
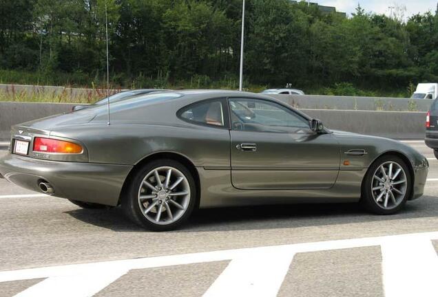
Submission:
M 179 116 L 194 124 L 225 126 L 224 108 L 221 100 L 208 100 L 191 104 L 179 111 Z

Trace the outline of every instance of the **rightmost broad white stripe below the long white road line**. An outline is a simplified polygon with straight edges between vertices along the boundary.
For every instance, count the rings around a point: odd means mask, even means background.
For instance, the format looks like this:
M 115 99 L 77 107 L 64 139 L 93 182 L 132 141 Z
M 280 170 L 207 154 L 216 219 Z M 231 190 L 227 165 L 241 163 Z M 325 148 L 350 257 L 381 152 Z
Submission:
M 390 239 L 382 244 L 386 297 L 436 297 L 438 256 L 427 239 Z

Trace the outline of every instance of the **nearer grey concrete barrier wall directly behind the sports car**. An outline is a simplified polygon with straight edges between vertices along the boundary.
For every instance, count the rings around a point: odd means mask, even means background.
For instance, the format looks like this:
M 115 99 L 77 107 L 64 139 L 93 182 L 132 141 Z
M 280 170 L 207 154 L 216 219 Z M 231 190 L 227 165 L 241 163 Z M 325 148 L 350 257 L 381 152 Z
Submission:
M 74 104 L 0 102 L 0 140 L 9 140 L 10 126 L 70 111 Z M 302 109 L 329 129 L 395 139 L 423 139 L 424 112 Z

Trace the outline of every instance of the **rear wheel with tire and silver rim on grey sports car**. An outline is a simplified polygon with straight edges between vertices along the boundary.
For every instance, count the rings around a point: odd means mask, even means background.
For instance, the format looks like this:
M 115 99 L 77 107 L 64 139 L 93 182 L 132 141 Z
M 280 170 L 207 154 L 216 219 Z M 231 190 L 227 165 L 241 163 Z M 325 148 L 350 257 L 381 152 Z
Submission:
M 174 230 L 196 205 L 194 178 L 183 164 L 171 159 L 153 161 L 136 173 L 122 199 L 134 223 L 153 231 Z

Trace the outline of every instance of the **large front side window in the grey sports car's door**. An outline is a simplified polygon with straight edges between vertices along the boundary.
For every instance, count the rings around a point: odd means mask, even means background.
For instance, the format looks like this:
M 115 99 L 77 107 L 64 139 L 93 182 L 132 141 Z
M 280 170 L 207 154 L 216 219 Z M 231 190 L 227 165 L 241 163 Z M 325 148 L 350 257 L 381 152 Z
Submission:
M 309 131 L 309 121 L 269 100 L 230 99 L 231 129 L 272 133 Z

